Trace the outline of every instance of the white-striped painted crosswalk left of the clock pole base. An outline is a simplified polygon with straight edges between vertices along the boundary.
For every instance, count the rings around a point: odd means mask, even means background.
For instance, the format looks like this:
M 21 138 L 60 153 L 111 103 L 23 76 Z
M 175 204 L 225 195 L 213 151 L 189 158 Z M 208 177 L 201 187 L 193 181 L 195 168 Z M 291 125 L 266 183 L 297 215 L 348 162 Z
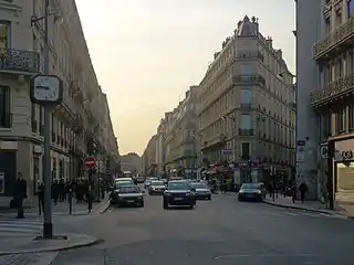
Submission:
M 0 218 L 0 237 L 35 236 L 42 233 L 41 218 Z

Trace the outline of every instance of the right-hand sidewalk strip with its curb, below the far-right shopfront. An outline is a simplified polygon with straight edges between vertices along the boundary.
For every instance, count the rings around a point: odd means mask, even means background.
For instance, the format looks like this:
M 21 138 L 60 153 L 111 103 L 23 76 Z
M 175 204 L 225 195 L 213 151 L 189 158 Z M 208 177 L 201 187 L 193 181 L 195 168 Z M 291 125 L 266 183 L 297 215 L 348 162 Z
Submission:
M 341 208 L 337 206 L 335 210 L 329 210 L 319 201 L 305 201 L 302 203 L 298 200 L 295 203 L 293 203 L 291 197 L 284 198 L 283 195 L 279 195 L 278 198 L 275 197 L 274 201 L 272 198 L 267 197 L 263 202 L 280 208 L 305 210 L 310 212 L 319 212 L 329 215 L 342 215 L 348 219 L 354 219 L 354 205 L 342 205 Z

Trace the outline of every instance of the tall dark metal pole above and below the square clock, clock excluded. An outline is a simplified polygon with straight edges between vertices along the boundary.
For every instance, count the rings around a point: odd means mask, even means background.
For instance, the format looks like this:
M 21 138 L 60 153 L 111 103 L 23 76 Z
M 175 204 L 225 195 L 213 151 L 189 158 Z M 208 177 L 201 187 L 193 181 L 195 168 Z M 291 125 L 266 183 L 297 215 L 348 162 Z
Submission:
M 48 15 L 49 15 L 49 0 L 44 4 L 44 75 L 49 75 L 49 45 L 48 45 Z M 52 199 L 51 199 L 51 134 L 50 134 L 50 104 L 44 104 L 44 153 L 43 153 L 43 181 L 44 181 L 44 223 L 43 223 L 43 239 L 53 239 L 53 223 L 52 223 Z

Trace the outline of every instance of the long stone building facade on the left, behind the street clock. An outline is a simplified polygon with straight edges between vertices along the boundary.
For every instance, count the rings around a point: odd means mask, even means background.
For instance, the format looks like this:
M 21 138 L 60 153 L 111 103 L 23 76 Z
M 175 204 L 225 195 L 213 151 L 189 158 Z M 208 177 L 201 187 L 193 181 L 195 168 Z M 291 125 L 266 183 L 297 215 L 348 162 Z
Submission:
M 0 204 L 9 205 L 13 181 L 21 172 L 28 200 L 34 203 L 42 180 L 43 107 L 31 103 L 31 76 L 43 73 L 44 1 L 0 1 Z M 63 102 L 51 112 L 51 170 L 53 179 L 84 177 L 87 152 L 106 168 L 118 163 L 106 96 L 90 59 L 75 1 L 51 2 L 63 18 L 49 19 L 50 74 L 64 83 Z M 32 24 L 32 25 L 31 25 Z M 98 107 L 97 107 L 98 106 Z

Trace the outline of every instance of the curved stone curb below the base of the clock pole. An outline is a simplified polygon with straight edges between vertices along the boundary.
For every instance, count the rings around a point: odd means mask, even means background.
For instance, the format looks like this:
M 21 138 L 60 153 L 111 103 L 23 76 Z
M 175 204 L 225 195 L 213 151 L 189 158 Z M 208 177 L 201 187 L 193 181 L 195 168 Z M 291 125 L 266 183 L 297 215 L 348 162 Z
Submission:
M 43 253 L 43 252 L 59 252 L 59 251 L 67 251 L 67 250 L 75 250 L 80 247 L 86 247 L 86 246 L 92 246 L 100 244 L 104 242 L 104 240 L 98 240 L 96 237 L 91 236 L 91 240 L 87 240 L 84 243 L 72 243 L 69 245 L 63 245 L 63 246 L 49 246 L 49 247 L 38 247 L 38 248 L 32 248 L 32 250 L 22 250 L 22 251 L 4 251 L 0 252 L 0 256 L 4 255 L 13 255 L 13 254 L 25 254 L 25 253 Z

